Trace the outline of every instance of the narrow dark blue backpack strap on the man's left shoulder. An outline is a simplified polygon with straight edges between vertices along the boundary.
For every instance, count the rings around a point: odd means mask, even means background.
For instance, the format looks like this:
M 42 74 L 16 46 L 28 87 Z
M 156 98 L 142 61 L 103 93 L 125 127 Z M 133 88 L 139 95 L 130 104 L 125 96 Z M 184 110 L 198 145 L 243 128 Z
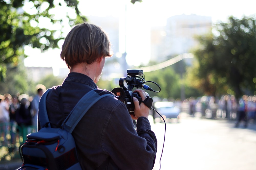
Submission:
M 40 121 L 41 127 L 44 127 L 47 123 L 48 126 L 51 127 L 49 123 L 49 118 L 46 111 L 46 97 L 51 89 L 49 88 L 40 98 L 38 105 L 38 119 Z

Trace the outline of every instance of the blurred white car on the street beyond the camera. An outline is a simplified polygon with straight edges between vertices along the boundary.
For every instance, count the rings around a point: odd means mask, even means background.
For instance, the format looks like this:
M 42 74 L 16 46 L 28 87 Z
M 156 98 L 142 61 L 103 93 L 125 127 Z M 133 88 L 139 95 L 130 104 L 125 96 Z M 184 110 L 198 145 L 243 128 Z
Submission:
M 180 108 L 175 106 L 171 101 L 155 102 L 153 108 L 156 109 L 164 117 L 165 120 L 172 118 L 179 119 Z M 156 121 L 155 119 L 159 117 L 160 116 L 155 111 L 153 111 L 154 122 Z

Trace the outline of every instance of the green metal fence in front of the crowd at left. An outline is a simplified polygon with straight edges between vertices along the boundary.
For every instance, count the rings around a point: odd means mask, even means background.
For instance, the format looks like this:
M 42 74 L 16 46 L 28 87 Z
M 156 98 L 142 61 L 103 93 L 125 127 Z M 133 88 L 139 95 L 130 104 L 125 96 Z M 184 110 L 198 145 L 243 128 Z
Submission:
M 26 135 L 33 132 L 36 127 L 0 123 L 0 163 L 20 159 L 19 146 L 27 139 Z

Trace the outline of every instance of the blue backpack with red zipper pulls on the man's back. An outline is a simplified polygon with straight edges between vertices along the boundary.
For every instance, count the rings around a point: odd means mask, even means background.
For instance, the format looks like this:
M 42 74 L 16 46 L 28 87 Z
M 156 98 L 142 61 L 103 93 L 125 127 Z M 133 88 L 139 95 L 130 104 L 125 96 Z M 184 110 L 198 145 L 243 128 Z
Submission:
M 36 133 L 28 134 L 27 140 L 20 145 L 19 152 L 23 166 L 17 170 L 82 169 L 71 133 L 95 102 L 105 96 L 113 96 L 107 90 L 93 89 L 89 91 L 69 113 L 61 128 L 51 128 L 46 111 L 46 97 L 49 91 L 50 89 L 45 92 L 39 103 L 38 119 L 42 128 Z M 104 162 L 99 168 L 102 168 L 102 166 L 105 166 Z

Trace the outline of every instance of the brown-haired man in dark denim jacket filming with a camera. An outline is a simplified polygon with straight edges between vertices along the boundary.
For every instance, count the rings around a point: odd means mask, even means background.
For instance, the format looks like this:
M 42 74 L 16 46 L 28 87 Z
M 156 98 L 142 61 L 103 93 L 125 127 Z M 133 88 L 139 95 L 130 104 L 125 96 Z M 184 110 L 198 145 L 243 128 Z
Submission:
M 47 96 L 46 108 L 52 127 L 60 127 L 76 103 L 98 88 L 95 83 L 100 79 L 105 58 L 112 54 L 107 34 L 96 25 L 82 23 L 67 35 L 60 56 L 70 73 L 62 86 L 53 88 Z M 144 90 L 134 91 L 142 100 L 146 99 Z M 102 165 L 104 169 L 153 168 L 157 140 L 148 121 L 149 108 L 139 104 L 135 97 L 133 101 L 134 115 L 129 114 L 121 101 L 108 96 L 83 116 L 72 132 L 83 169 L 97 169 Z M 137 120 L 137 132 L 131 118 Z

